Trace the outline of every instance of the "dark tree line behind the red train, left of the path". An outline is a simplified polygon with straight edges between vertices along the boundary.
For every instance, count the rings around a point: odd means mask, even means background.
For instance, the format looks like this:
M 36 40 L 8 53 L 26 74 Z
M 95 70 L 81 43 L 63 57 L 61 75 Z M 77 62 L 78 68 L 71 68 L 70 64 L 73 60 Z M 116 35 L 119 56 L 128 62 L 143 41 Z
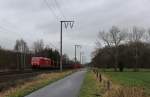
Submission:
M 7 50 L 0 46 L 0 70 L 23 70 L 31 68 L 32 57 L 47 57 L 59 65 L 60 53 L 58 49 L 52 49 L 45 45 L 43 40 L 37 40 L 29 49 L 27 42 L 23 39 L 16 40 L 13 50 Z M 72 64 L 73 61 L 64 54 L 63 64 Z

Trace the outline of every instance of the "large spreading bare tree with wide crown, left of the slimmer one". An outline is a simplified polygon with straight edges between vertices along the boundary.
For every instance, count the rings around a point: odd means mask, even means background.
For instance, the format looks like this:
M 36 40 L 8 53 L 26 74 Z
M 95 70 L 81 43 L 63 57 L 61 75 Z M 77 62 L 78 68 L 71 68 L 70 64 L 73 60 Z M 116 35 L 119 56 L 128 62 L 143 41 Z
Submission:
M 126 34 L 122 30 L 120 30 L 118 27 L 113 26 L 108 32 L 101 31 L 99 32 L 99 42 L 102 42 L 108 46 L 108 47 L 115 47 L 115 64 L 114 69 L 117 71 L 118 66 L 118 46 L 121 44 L 123 40 L 125 40 Z

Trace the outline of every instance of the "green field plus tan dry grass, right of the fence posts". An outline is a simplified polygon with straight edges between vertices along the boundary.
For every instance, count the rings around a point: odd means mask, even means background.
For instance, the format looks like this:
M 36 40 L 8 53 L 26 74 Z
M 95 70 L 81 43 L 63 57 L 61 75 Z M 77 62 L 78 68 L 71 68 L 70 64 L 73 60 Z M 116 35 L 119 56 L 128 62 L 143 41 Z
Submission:
M 150 72 L 101 72 L 113 89 L 104 97 L 150 97 Z M 117 87 L 117 88 L 116 88 Z

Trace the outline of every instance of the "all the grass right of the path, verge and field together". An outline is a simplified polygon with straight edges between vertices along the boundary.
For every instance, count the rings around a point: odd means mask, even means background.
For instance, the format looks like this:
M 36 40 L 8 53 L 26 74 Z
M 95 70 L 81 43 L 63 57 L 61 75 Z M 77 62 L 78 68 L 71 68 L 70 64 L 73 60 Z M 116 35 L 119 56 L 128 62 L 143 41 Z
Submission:
M 99 71 L 103 80 L 99 82 L 89 71 L 79 97 L 150 97 L 150 72 Z M 110 88 L 107 82 L 110 82 Z

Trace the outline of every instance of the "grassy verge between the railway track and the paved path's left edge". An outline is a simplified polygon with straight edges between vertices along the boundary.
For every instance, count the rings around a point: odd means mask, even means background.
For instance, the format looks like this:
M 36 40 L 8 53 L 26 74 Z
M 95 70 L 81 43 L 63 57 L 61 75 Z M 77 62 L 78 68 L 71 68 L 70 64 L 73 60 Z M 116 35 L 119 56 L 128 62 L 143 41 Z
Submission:
M 24 82 L 23 84 L 19 84 L 11 89 L 4 91 L 0 94 L 0 97 L 24 97 L 25 95 L 40 89 L 56 80 L 64 78 L 65 76 L 71 74 L 72 71 L 63 71 L 56 73 L 45 73 L 40 74 L 34 78 L 32 78 L 28 82 Z

